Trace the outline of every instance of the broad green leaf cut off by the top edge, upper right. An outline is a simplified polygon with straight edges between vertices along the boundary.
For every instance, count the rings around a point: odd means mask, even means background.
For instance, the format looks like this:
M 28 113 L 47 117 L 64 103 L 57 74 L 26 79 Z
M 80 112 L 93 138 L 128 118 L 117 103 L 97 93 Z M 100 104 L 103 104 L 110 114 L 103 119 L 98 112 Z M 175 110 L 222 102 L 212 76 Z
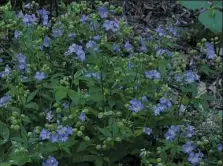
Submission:
M 178 1 L 181 5 L 188 9 L 196 10 L 196 9 L 201 9 L 201 8 L 209 8 L 210 5 L 208 4 L 207 1 Z

